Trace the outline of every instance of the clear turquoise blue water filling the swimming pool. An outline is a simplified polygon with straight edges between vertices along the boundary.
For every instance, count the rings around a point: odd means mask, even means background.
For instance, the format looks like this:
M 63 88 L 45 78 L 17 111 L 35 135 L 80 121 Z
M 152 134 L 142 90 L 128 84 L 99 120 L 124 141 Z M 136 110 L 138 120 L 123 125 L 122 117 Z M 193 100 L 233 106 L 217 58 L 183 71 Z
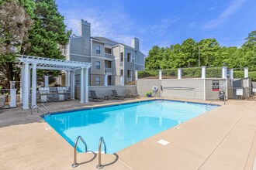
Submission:
M 74 110 L 44 118 L 72 146 L 78 135 L 81 135 L 89 151 L 98 151 L 99 138 L 103 137 L 107 153 L 114 153 L 215 107 L 217 106 L 151 100 L 90 110 Z M 78 143 L 78 151 L 85 151 L 85 146 L 81 142 Z

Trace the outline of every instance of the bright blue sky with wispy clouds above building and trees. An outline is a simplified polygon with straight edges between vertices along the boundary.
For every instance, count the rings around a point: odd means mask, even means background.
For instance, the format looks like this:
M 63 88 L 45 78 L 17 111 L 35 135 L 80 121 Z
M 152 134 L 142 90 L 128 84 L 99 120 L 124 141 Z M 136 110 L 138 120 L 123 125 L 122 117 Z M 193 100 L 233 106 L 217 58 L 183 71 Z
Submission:
M 67 29 L 92 24 L 92 36 L 130 45 L 140 39 L 147 54 L 154 45 L 170 46 L 185 39 L 215 38 L 221 46 L 241 46 L 256 30 L 256 0 L 57 0 Z

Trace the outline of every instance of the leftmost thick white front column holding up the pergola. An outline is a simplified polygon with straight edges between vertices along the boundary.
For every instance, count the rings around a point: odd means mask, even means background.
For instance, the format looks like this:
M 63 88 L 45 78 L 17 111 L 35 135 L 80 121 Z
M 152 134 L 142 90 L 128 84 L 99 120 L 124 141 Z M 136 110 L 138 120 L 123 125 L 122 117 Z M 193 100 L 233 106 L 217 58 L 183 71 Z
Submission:
M 28 110 L 29 109 L 29 63 L 24 62 L 23 63 L 23 67 L 24 67 L 24 83 L 23 83 L 23 87 L 22 87 L 22 109 L 23 110 Z

